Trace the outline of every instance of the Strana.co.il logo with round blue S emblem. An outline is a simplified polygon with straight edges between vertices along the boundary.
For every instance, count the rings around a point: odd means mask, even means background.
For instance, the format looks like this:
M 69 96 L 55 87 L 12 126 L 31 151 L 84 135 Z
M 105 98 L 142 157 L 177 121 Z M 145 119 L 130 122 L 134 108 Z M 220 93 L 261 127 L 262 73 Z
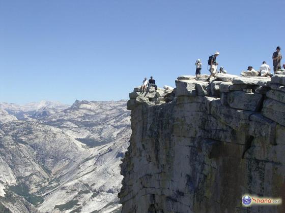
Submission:
M 258 197 L 256 195 L 243 195 L 241 202 L 242 205 L 246 207 L 249 207 L 251 205 L 279 205 L 282 204 L 282 199 L 272 197 Z

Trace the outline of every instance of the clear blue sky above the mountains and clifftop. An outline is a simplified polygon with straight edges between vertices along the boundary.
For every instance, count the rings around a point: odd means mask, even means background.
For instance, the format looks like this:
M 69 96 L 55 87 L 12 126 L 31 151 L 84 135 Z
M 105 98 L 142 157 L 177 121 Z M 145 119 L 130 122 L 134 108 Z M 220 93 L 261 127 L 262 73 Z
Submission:
M 215 51 L 230 74 L 285 50 L 285 1 L 0 0 L 0 102 L 127 99 L 202 73 Z M 285 62 L 285 52 L 282 62 Z

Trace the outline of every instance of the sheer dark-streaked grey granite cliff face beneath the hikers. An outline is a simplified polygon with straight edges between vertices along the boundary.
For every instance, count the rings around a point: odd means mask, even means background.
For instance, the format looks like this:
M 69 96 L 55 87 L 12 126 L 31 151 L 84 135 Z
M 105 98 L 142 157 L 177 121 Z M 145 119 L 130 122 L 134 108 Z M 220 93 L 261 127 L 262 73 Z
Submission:
M 283 205 L 241 205 L 244 194 L 285 199 L 285 93 L 270 86 L 268 96 L 255 93 L 257 83 L 227 83 L 235 91 L 220 98 L 199 96 L 200 83 L 182 79 L 172 101 L 134 105 L 122 212 L 285 212 Z

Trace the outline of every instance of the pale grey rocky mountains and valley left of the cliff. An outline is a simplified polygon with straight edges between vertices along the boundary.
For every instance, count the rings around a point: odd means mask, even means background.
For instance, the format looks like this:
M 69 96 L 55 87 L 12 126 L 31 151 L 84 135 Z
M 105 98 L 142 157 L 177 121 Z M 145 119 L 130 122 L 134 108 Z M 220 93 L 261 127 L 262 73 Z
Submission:
M 118 212 L 126 101 L 0 104 L 0 212 Z

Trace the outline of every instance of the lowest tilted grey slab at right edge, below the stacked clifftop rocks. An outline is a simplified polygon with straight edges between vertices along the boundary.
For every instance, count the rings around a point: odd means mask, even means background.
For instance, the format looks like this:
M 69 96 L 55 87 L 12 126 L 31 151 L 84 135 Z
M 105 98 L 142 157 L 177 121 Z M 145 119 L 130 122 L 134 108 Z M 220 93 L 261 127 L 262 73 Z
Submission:
M 263 103 L 262 115 L 285 126 L 285 103 L 266 98 Z

